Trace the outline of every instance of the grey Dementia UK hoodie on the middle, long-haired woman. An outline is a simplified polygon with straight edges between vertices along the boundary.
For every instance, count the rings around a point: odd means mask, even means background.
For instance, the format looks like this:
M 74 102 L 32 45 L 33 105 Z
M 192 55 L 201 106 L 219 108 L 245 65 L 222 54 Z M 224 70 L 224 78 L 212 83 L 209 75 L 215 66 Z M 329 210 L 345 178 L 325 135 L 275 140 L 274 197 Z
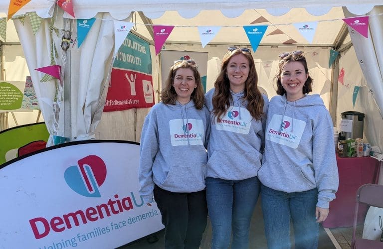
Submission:
M 205 95 L 206 106 L 213 111 L 212 98 L 214 89 Z M 207 176 L 225 180 L 243 180 L 257 176 L 261 166 L 269 100 L 264 100 L 261 121 L 251 117 L 243 100 L 244 92 L 231 92 L 232 105 L 220 119 L 213 121 L 211 115 L 211 132 L 208 144 Z

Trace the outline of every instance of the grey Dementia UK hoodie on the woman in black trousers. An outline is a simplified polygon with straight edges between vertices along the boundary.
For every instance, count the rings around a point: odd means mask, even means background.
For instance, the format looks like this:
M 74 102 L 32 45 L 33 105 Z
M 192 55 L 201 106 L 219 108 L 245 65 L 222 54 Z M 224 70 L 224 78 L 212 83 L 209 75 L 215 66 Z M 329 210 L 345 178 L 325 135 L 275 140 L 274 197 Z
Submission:
M 140 195 L 153 200 L 154 184 L 171 192 L 205 188 L 209 112 L 204 106 L 156 104 L 145 118 L 140 145 Z

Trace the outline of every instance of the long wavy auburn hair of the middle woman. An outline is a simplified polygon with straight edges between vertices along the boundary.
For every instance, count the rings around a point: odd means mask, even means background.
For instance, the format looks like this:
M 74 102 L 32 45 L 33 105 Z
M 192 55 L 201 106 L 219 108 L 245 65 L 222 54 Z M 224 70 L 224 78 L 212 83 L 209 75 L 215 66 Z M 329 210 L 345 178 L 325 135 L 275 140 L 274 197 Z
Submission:
M 230 82 L 226 75 L 227 65 L 230 59 L 238 54 L 243 54 L 249 61 L 249 75 L 245 82 L 243 100 L 247 101 L 246 109 L 250 112 L 253 119 L 261 120 L 263 113 L 264 101 L 261 92 L 258 90 L 258 75 L 255 70 L 254 59 L 249 52 L 241 51 L 237 48 L 232 51 L 227 51 L 222 59 L 221 71 L 214 82 L 215 93 L 212 99 L 213 112 L 215 118 L 220 118 L 227 112 L 233 99 L 230 94 Z

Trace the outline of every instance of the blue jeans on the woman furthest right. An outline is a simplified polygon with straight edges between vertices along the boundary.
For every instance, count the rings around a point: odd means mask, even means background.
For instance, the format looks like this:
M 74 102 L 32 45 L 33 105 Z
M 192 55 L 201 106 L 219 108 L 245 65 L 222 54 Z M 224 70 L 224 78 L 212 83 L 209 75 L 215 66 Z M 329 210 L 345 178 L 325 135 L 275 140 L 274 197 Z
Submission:
M 261 184 L 261 202 L 269 249 L 290 249 L 290 218 L 295 249 L 318 248 L 319 224 L 315 219 L 317 188 L 286 193 Z

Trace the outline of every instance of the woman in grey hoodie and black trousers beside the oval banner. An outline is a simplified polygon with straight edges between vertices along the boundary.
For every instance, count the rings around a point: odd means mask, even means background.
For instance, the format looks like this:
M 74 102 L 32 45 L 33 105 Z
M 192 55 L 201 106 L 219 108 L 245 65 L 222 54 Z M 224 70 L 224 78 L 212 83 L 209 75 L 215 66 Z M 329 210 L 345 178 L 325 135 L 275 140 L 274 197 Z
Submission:
M 139 192 L 160 209 L 166 249 L 198 249 L 207 219 L 209 112 L 194 61 L 176 61 L 165 84 L 142 127 Z

